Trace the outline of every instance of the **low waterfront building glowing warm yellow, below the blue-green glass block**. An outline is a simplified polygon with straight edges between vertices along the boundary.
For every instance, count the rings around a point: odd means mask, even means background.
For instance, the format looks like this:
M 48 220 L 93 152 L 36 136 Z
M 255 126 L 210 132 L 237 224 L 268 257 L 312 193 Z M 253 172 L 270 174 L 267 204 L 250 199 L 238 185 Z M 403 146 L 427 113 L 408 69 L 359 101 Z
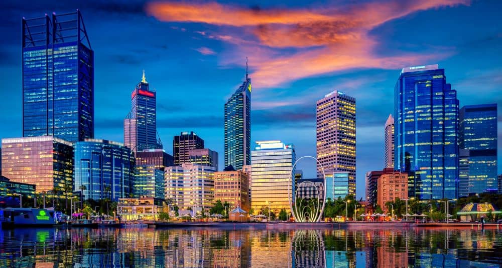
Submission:
M 159 220 L 160 213 L 168 213 L 164 199 L 155 197 L 119 198 L 117 215 L 121 221 Z

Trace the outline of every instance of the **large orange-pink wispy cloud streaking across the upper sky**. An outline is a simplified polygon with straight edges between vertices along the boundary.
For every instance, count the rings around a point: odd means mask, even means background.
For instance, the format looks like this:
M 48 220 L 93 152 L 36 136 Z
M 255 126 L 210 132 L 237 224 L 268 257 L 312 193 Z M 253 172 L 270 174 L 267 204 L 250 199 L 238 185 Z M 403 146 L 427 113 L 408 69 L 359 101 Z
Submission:
M 388 0 L 313 9 L 260 9 L 218 3 L 153 2 L 146 11 L 161 21 L 219 26 L 221 33 L 208 37 L 235 45 L 235 51 L 227 55 L 229 59 L 235 59 L 235 54 L 240 58 L 249 56 L 255 67 L 254 84 L 260 89 L 337 71 L 399 69 L 448 57 L 452 50 L 381 56 L 375 52 L 381 44 L 369 32 L 414 12 L 468 4 L 469 0 Z

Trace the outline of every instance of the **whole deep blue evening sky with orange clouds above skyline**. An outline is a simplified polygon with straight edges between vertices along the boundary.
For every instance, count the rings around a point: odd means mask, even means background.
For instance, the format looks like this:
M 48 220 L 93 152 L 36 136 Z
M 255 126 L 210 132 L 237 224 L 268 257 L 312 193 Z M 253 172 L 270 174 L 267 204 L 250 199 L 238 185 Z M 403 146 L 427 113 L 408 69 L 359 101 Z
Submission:
M 95 137 L 123 142 L 130 94 L 145 70 L 157 90 L 157 127 L 194 131 L 223 166 L 223 106 L 252 79 L 252 143 L 293 143 L 315 156 L 315 102 L 356 98 L 357 198 L 381 170 L 384 124 L 403 67 L 439 64 L 460 106 L 497 103 L 502 144 L 500 1 L 3 1 L 0 137 L 22 135 L 21 19 L 79 9 L 94 50 Z M 502 160 L 498 154 L 498 162 Z M 498 173 L 502 173 L 502 165 Z M 315 163 L 298 164 L 306 177 Z

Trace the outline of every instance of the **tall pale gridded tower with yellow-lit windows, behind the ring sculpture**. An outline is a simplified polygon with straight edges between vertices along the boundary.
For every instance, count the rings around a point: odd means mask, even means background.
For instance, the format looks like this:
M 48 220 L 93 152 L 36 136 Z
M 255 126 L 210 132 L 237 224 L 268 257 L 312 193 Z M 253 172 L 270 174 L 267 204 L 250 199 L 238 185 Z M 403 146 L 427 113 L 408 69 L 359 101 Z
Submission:
M 355 98 L 335 90 L 316 106 L 317 159 L 326 175 L 349 172 L 349 194 L 355 195 Z

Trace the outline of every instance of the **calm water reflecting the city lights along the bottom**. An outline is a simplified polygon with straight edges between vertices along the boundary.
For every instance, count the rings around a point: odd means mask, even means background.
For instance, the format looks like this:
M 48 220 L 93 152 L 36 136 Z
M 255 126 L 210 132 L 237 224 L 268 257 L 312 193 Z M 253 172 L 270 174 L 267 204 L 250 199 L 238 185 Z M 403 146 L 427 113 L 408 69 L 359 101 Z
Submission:
M 14 229 L 1 267 L 500 267 L 502 231 Z

